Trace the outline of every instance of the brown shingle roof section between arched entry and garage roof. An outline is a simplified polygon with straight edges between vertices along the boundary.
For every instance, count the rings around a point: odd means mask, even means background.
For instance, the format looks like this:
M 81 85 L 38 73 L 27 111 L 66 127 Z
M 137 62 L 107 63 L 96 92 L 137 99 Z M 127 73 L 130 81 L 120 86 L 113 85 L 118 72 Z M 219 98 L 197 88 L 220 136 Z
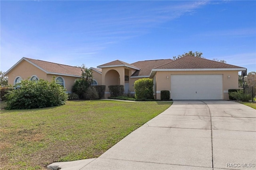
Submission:
M 140 70 L 135 71 L 132 74 L 132 76 L 149 76 L 152 69 L 160 65 L 163 65 L 165 63 L 168 63 L 170 61 L 173 61 L 173 60 L 157 59 L 157 60 L 148 60 L 148 61 L 138 61 L 136 63 L 132 63 L 132 65 L 135 65 L 136 67 L 140 68 Z

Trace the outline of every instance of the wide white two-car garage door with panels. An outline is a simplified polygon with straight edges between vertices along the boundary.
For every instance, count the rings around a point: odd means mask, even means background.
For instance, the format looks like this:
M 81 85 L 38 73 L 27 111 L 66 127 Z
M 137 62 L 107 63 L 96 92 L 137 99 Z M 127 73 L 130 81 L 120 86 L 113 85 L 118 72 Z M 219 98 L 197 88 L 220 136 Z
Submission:
M 222 99 L 222 75 L 171 75 L 171 99 Z

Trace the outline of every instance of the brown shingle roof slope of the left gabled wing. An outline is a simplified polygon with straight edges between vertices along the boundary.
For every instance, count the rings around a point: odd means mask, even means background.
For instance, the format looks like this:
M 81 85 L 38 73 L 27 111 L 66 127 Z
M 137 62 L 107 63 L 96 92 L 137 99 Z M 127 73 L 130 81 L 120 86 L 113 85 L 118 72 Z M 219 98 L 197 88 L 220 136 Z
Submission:
M 30 59 L 30 58 L 25 58 L 25 59 L 27 59 L 28 61 L 34 63 L 38 67 L 50 73 L 60 73 L 60 74 L 76 75 L 76 76 L 81 76 L 81 73 L 82 73 L 81 68 L 78 68 L 78 67 L 73 67 L 73 66 L 63 65 L 58 63 L 51 63 L 48 61 L 42 61 L 37 59 Z

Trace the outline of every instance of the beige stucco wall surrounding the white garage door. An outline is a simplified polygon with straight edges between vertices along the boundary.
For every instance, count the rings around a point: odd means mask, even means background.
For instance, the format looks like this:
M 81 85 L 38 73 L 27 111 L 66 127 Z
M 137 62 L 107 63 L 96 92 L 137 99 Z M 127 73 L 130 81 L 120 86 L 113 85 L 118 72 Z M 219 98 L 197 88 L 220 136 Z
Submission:
M 238 71 L 157 71 L 156 98 L 160 99 L 161 90 L 171 90 L 171 75 L 188 74 L 222 74 L 223 75 L 223 99 L 228 100 L 228 89 L 238 89 Z M 228 79 L 228 75 L 230 78 Z

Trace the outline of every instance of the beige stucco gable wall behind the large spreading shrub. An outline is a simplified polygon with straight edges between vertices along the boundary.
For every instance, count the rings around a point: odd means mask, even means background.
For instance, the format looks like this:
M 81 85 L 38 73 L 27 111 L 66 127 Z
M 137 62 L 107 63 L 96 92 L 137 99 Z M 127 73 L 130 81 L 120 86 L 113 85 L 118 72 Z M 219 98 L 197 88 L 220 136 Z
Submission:
M 8 73 L 8 84 L 14 84 L 16 77 L 21 77 L 22 79 L 28 79 L 36 75 L 38 79 L 46 79 L 46 73 L 41 69 L 38 69 L 34 65 L 28 63 L 28 61 L 21 61 L 14 69 Z

